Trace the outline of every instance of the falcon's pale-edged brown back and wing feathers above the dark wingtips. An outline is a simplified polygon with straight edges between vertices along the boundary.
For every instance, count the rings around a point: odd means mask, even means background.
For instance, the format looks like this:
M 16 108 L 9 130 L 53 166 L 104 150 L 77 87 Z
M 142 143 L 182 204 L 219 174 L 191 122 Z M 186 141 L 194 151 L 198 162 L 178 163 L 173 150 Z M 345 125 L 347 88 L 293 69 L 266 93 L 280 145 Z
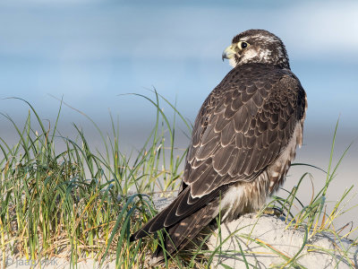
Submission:
M 275 161 L 303 117 L 305 93 L 288 70 L 234 68 L 200 108 L 183 184 L 192 197 L 250 181 Z

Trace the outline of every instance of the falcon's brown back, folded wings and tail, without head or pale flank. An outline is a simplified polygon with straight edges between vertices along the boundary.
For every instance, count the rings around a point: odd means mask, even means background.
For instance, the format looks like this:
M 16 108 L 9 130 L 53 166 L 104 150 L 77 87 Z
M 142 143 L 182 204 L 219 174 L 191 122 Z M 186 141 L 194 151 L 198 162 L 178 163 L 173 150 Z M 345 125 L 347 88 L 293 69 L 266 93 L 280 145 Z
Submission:
M 232 182 L 252 180 L 277 159 L 304 115 L 304 102 L 303 88 L 288 70 L 234 68 L 200 108 L 179 195 L 131 240 L 166 228 L 169 252 L 183 248 L 215 218 L 215 200 Z M 162 259 L 159 248 L 155 256 Z

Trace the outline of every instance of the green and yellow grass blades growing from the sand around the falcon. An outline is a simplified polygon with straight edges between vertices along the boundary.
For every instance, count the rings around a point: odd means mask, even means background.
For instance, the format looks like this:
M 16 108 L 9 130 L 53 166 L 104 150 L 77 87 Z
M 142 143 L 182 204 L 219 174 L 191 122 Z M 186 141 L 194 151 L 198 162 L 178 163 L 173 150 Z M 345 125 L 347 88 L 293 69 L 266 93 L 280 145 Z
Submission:
M 5 257 L 9 254 L 32 260 L 66 257 L 73 266 L 87 258 L 93 258 L 102 265 L 115 259 L 116 268 L 145 266 L 146 256 L 161 244 L 160 234 L 132 244 L 129 237 L 156 213 L 152 195 L 171 194 L 178 188 L 186 151 L 175 151 L 176 121 L 178 118 L 182 121 L 188 134 L 191 133 L 191 126 L 175 105 L 157 91 L 154 91 L 154 99 L 134 95 L 153 104 L 156 122 L 141 149 L 130 156 L 121 151 L 119 124 L 112 116 L 111 134 L 104 134 L 88 117 L 102 138 L 105 150 L 99 152 L 91 147 L 80 126 L 73 124 L 75 137 L 61 135 L 57 124 L 63 101 L 53 125 L 47 126 L 36 109 L 21 99 L 18 100 L 30 108 L 23 126 L 16 125 L 12 117 L 2 114 L 19 136 L 18 143 L 13 145 L 0 137 L 3 155 L 0 161 L 0 248 L 3 267 Z M 161 109 L 162 102 L 172 109 L 171 119 Z M 326 184 L 311 203 L 304 206 L 296 196 L 303 179 L 309 176 L 306 173 L 287 197 L 274 196 L 268 204 L 286 214 L 288 226 L 306 230 L 307 238 L 303 240 L 303 247 L 311 236 L 320 232 L 330 232 L 337 238 L 342 236 L 342 230 L 332 229 L 332 223 L 345 211 L 345 199 L 352 188 L 342 195 L 331 213 L 325 211 L 327 189 L 343 158 L 331 172 L 336 132 Z M 57 151 L 56 145 L 60 142 L 65 145 L 62 152 Z M 301 207 L 301 210 L 294 213 L 293 209 L 297 207 Z M 220 246 L 227 239 L 221 239 Z M 262 241 L 257 243 L 266 244 Z M 191 256 L 166 259 L 164 266 L 208 268 L 213 257 L 220 252 L 220 247 L 208 253 L 203 250 L 204 244 L 205 239 Z M 275 252 L 275 249 L 271 251 Z M 347 250 L 343 252 L 346 256 Z M 241 247 L 239 255 L 247 268 L 255 266 L 248 264 Z M 285 266 L 298 265 L 299 255 L 298 252 L 294 257 L 283 256 Z M 206 258 L 203 259 L 203 256 Z

